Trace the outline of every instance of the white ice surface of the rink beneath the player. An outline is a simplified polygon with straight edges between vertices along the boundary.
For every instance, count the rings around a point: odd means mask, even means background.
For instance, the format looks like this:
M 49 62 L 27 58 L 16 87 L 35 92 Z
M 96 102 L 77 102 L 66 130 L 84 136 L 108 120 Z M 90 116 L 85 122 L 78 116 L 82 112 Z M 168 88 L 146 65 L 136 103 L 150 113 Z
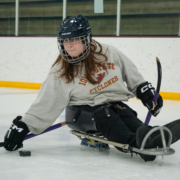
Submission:
M 38 91 L 0 88 L 0 142 L 12 120 L 24 115 Z M 144 122 L 147 109 L 140 101 L 127 103 Z M 161 113 L 150 125 L 164 125 L 180 118 L 180 101 L 164 100 Z M 64 113 L 55 123 L 64 121 Z M 109 151 L 95 151 L 80 145 L 67 126 L 24 141 L 23 150 L 31 157 L 19 156 L 19 150 L 0 149 L 0 180 L 179 180 L 180 141 L 171 146 L 174 155 L 145 163 L 139 156 L 124 154 L 110 146 Z M 161 161 L 161 158 L 159 158 Z

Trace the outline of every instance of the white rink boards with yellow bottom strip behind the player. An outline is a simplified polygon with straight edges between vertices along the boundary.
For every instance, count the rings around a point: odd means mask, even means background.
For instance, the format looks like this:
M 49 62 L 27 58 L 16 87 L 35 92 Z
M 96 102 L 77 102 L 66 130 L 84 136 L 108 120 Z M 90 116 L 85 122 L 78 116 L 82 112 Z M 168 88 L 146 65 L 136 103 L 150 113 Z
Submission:
M 156 56 L 162 65 L 161 95 L 180 100 L 180 38 L 95 37 L 129 57 L 156 87 Z M 0 37 L 0 87 L 39 89 L 58 56 L 56 37 Z

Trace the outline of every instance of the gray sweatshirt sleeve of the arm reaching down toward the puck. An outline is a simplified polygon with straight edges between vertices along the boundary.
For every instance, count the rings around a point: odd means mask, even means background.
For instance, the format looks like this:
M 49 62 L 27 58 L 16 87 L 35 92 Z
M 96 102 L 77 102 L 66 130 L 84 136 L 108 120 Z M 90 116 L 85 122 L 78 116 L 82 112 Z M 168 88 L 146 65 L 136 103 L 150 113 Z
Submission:
M 39 134 L 51 126 L 69 103 L 69 95 L 61 81 L 51 69 L 37 98 L 22 118 L 33 134 Z

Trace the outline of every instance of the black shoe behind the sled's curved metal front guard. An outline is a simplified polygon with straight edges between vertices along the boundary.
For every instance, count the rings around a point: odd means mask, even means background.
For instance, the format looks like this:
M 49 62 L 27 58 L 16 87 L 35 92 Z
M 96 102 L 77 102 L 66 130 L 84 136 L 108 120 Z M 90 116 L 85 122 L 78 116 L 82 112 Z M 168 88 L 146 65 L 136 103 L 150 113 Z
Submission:
M 142 144 L 144 137 L 151 129 L 152 129 L 152 127 L 150 127 L 150 126 L 141 126 L 140 128 L 138 128 L 138 130 L 136 132 L 137 148 L 139 148 L 139 149 L 141 148 L 141 144 Z M 151 148 L 155 148 L 155 145 L 154 145 L 154 140 L 151 137 L 149 137 L 146 141 L 144 149 L 151 149 Z M 145 162 L 154 161 L 156 159 L 156 156 L 154 156 L 154 155 L 140 154 L 140 156 Z

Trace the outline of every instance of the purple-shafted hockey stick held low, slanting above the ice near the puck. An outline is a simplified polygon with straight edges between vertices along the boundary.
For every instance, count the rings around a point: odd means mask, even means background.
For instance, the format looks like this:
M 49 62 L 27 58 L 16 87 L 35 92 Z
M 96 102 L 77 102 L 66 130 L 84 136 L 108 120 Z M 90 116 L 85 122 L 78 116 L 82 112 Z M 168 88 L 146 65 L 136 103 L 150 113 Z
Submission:
M 30 133 L 30 134 L 26 135 L 26 137 L 25 137 L 24 140 L 33 138 L 33 137 L 35 137 L 35 136 L 39 136 L 39 135 L 41 135 L 41 134 L 47 133 L 47 132 L 49 132 L 49 131 L 52 131 L 52 130 L 54 130 L 54 129 L 60 128 L 60 127 L 65 126 L 65 125 L 66 125 L 66 121 L 63 121 L 63 122 L 61 122 L 61 123 L 58 123 L 58 124 L 55 124 L 55 125 L 50 126 L 49 128 L 47 128 L 45 131 L 43 131 L 43 132 L 40 133 L 40 134 L 32 134 L 32 133 Z M 5 145 L 4 142 L 0 143 L 0 147 L 4 147 L 4 145 Z

